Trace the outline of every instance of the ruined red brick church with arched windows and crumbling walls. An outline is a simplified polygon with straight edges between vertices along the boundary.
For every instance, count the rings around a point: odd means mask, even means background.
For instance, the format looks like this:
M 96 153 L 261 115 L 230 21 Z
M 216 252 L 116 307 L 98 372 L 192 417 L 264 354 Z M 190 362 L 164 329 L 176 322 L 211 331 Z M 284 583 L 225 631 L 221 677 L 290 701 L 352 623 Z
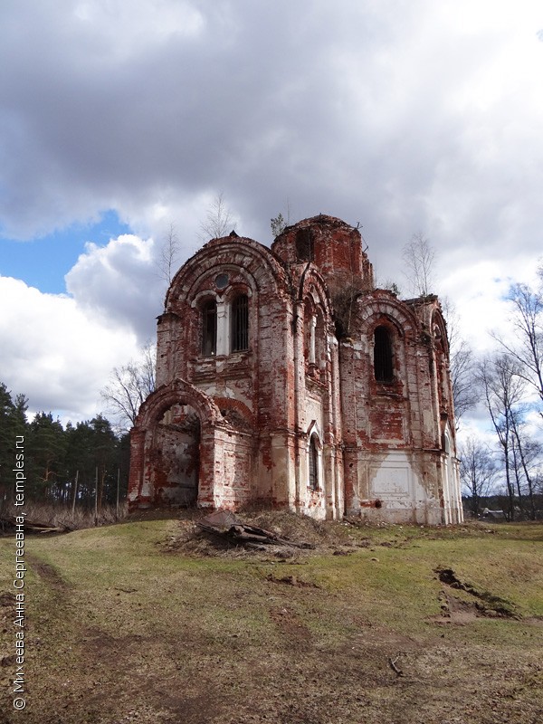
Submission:
M 132 510 L 462 520 L 439 301 L 376 289 L 360 233 L 332 216 L 271 249 L 213 239 L 177 271 L 130 444 Z

